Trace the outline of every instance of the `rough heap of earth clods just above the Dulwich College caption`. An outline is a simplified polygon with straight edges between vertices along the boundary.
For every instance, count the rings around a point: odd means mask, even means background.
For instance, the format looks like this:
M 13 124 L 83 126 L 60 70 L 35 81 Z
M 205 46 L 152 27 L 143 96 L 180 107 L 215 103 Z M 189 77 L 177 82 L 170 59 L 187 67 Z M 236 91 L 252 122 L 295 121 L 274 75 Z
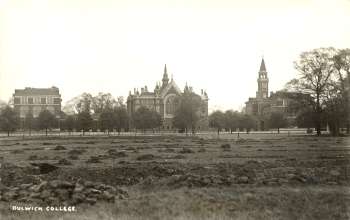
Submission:
M 1 188 L 1 200 L 6 202 L 32 202 L 47 205 L 95 204 L 97 201 L 114 202 L 128 193 L 122 189 L 90 181 L 41 181 L 38 184 L 21 184 L 19 187 Z

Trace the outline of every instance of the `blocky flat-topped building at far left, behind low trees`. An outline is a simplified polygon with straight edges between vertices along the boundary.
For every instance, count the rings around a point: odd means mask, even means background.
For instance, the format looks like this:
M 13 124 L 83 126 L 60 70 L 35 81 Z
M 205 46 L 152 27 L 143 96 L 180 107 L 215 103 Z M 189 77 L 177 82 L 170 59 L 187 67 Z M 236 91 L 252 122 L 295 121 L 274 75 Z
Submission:
M 59 89 L 29 88 L 16 89 L 13 94 L 13 104 L 20 118 L 25 118 L 28 113 L 37 118 L 41 111 L 49 110 L 56 118 L 61 114 L 61 95 Z

